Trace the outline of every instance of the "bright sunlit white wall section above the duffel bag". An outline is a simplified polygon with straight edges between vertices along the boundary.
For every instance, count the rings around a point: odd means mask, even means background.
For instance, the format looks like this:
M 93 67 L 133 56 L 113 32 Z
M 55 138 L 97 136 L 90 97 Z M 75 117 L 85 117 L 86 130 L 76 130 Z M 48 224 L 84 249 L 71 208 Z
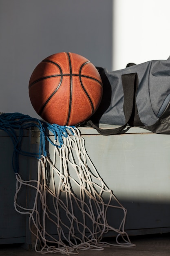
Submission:
M 170 56 L 169 0 L 114 0 L 113 70 Z

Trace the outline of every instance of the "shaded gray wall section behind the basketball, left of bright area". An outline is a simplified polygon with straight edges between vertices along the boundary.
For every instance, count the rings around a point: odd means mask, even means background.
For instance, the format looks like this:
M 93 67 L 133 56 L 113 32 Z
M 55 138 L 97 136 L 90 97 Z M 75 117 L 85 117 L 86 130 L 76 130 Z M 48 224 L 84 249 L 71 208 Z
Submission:
M 0 112 L 38 117 L 28 83 L 56 52 L 112 70 L 112 0 L 0 0 Z

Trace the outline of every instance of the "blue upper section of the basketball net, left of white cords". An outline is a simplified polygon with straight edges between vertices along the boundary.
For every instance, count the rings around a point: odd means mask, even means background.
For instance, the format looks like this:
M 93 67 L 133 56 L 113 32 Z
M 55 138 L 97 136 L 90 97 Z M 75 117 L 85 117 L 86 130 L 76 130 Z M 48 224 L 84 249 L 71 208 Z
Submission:
M 39 152 L 28 152 L 22 150 L 22 137 L 23 132 L 26 129 L 36 127 L 40 130 L 40 146 L 39 146 Z M 72 126 L 74 127 L 74 126 Z M 63 137 L 68 137 L 68 131 L 70 131 L 72 134 L 71 128 L 67 126 L 60 126 L 57 124 L 49 124 L 45 121 L 40 121 L 39 119 L 30 117 L 29 115 L 23 115 L 21 113 L 15 112 L 15 113 L 2 113 L 0 115 L 0 129 L 7 132 L 9 137 L 11 138 L 13 142 L 13 170 L 15 173 L 18 173 L 19 170 L 19 164 L 18 164 L 18 158 L 19 155 L 25 155 L 29 157 L 36 157 L 37 159 L 40 159 L 42 155 L 46 157 L 46 147 L 45 142 L 48 140 L 53 146 L 60 148 L 63 144 Z M 54 135 L 55 140 L 57 141 L 57 144 L 54 144 L 53 141 L 51 141 L 49 132 L 51 132 Z

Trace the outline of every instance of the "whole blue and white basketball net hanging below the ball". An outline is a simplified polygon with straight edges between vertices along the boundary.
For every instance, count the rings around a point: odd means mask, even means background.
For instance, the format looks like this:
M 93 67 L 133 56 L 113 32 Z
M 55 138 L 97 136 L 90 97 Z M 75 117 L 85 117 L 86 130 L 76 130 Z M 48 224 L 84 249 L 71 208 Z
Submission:
M 134 246 L 124 231 L 126 209 L 102 180 L 85 149 L 84 138 L 75 127 L 50 125 L 19 113 L 0 115 L 0 128 L 14 137 L 14 162 L 18 154 L 38 158 L 36 180 L 22 180 L 15 164 L 15 210 L 29 216 L 29 229 L 35 237 L 35 251 L 71 255 L 78 250 L 103 250 L 114 245 Z M 23 152 L 21 139 L 15 130 L 36 126 L 40 130 L 39 153 Z M 54 141 L 49 138 L 54 135 Z M 46 150 L 46 141 L 53 146 L 53 156 Z M 29 187 L 34 196 L 33 206 L 22 205 L 18 200 L 23 187 Z M 118 227 L 109 225 L 108 210 L 123 213 Z M 55 234 L 51 234 L 51 228 Z M 103 241 L 104 234 L 114 231 L 116 243 Z M 106 235 L 105 235 L 106 236 Z M 119 237 L 121 236 L 121 242 Z

